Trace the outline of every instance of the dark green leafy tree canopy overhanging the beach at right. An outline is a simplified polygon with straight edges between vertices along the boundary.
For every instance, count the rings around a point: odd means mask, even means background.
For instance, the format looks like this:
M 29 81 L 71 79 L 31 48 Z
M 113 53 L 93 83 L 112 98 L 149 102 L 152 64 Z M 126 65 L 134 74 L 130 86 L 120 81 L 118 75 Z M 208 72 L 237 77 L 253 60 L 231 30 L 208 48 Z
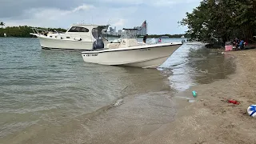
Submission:
M 256 0 L 203 0 L 179 22 L 190 38 L 222 42 L 233 38 L 253 41 L 256 33 Z

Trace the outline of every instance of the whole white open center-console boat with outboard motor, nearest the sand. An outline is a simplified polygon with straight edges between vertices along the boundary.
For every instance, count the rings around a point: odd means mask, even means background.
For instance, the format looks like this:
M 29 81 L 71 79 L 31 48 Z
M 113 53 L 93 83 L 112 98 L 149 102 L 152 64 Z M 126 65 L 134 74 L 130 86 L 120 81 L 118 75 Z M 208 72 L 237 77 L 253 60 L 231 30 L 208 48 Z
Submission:
M 174 53 L 182 42 L 146 44 L 137 41 L 135 29 L 123 29 L 118 42 L 104 47 L 102 39 L 94 42 L 93 50 L 82 52 L 85 62 L 112 66 L 156 68 Z

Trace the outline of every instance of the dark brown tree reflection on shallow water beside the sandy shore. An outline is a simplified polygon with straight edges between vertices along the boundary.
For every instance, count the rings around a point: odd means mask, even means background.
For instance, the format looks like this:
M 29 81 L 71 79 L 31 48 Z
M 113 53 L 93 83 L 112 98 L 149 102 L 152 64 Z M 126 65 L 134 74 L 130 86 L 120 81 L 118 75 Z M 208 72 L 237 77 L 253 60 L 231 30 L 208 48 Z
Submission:
M 225 59 L 225 55 L 213 50 L 201 49 L 195 51 L 195 54 L 191 52 L 189 54 L 189 64 L 199 72 L 199 74 L 192 76 L 192 78 L 202 84 L 213 82 L 216 79 L 224 79 L 228 74 L 234 73 L 235 65 L 233 60 L 233 57 Z

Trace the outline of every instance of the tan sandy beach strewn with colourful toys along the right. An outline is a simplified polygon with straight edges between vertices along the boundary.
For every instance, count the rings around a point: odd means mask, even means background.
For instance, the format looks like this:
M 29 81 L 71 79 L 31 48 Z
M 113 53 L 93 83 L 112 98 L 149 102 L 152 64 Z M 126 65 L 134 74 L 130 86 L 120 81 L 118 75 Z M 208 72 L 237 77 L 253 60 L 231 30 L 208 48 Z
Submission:
M 136 143 L 256 143 L 256 118 L 246 111 L 256 103 L 256 50 L 224 54 L 235 58 L 235 74 L 176 94 L 174 100 L 179 109 L 175 121 L 162 125 Z M 198 92 L 198 97 L 188 105 L 180 97 L 193 98 L 192 90 Z M 226 102 L 230 98 L 240 105 Z

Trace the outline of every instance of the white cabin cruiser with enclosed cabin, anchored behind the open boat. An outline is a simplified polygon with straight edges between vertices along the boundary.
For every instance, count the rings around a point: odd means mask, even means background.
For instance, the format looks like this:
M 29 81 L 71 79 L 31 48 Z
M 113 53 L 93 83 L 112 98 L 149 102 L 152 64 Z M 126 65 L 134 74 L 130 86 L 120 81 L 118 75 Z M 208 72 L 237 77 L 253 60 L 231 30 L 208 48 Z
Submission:
M 39 38 L 42 49 L 90 50 L 98 34 L 103 42 L 108 43 L 102 34 L 107 28 L 108 26 L 74 24 L 66 33 L 33 28 L 34 33 L 30 34 Z

